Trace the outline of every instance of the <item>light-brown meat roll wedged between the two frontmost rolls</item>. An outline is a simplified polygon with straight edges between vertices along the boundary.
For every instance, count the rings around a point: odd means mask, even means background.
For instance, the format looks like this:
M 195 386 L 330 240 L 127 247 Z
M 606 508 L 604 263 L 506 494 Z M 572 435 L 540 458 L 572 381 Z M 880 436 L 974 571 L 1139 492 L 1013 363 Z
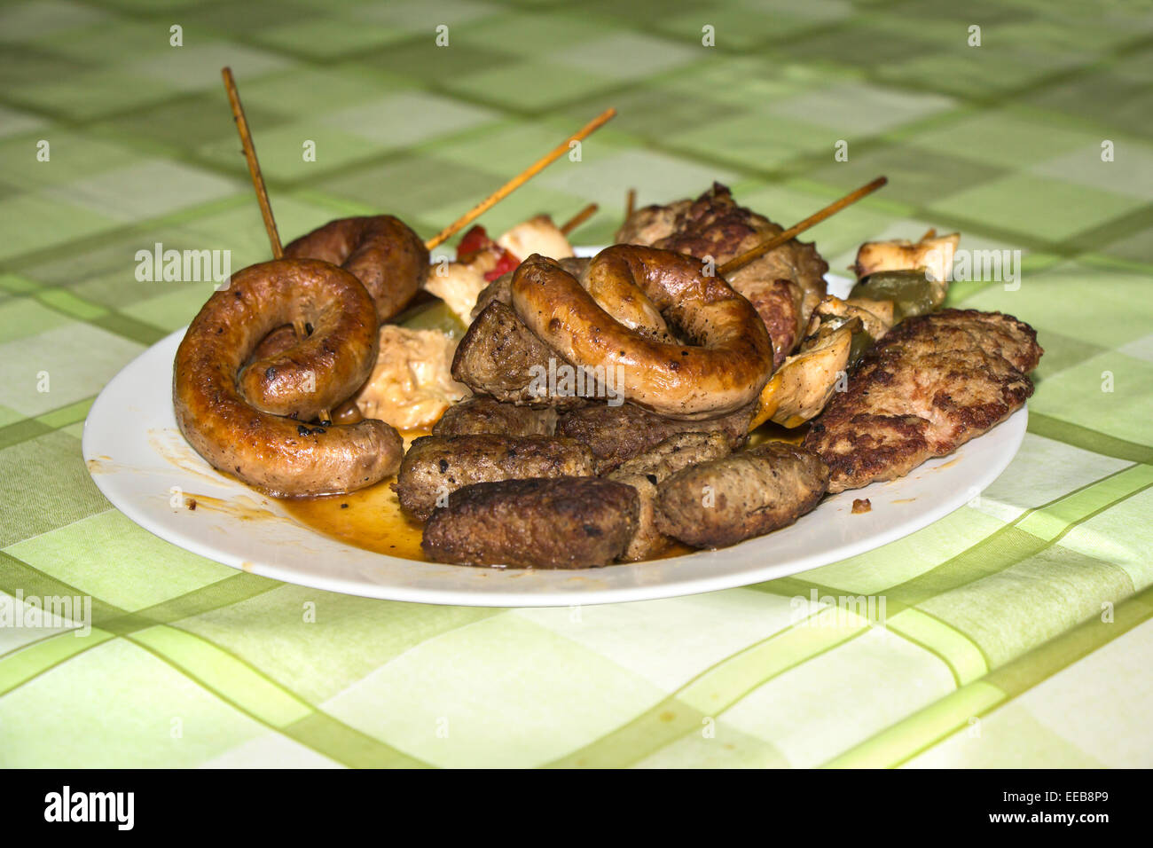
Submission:
M 609 474 L 610 480 L 628 483 L 640 496 L 636 532 L 620 558 L 631 562 L 648 560 L 672 543 L 672 539 L 656 526 L 657 483 L 681 468 L 719 459 L 731 451 L 729 440 L 721 433 L 678 433 Z

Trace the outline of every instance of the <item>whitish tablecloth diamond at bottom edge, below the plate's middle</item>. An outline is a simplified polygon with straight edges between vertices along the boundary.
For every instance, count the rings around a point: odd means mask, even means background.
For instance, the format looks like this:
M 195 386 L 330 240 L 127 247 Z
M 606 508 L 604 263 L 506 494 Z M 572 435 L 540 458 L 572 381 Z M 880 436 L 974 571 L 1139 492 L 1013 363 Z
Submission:
M 435 765 L 533 766 L 664 696 L 610 659 L 505 614 L 416 645 L 322 708 Z

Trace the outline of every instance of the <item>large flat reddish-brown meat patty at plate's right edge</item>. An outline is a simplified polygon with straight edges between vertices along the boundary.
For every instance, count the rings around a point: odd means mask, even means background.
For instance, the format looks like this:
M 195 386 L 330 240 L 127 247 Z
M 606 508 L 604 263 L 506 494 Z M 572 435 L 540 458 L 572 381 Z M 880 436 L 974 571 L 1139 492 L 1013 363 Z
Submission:
M 910 318 L 869 350 L 805 446 L 832 471 L 829 491 L 904 476 L 1020 408 L 1043 351 L 1011 315 L 945 309 Z

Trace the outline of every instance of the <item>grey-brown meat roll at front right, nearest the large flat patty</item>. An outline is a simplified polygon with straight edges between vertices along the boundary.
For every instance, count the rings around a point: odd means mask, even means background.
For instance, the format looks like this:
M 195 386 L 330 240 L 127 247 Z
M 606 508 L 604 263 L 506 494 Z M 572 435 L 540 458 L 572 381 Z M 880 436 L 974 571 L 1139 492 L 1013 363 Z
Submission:
M 722 548 L 792 524 L 828 483 L 829 468 L 815 453 L 766 442 L 658 483 L 657 530 L 695 548 Z

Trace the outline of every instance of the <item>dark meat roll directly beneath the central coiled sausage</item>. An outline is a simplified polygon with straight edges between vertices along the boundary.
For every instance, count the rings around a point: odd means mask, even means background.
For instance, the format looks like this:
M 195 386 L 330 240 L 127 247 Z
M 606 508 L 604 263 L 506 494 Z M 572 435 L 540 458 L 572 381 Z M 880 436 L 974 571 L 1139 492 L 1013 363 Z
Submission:
M 717 431 L 724 434 L 730 449 L 739 448 L 748 438 L 751 420 L 751 408 L 702 421 L 680 421 L 632 404 L 596 404 L 562 415 L 557 435 L 587 444 L 596 458 L 596 473 L 606 474 L 677 433 Z

